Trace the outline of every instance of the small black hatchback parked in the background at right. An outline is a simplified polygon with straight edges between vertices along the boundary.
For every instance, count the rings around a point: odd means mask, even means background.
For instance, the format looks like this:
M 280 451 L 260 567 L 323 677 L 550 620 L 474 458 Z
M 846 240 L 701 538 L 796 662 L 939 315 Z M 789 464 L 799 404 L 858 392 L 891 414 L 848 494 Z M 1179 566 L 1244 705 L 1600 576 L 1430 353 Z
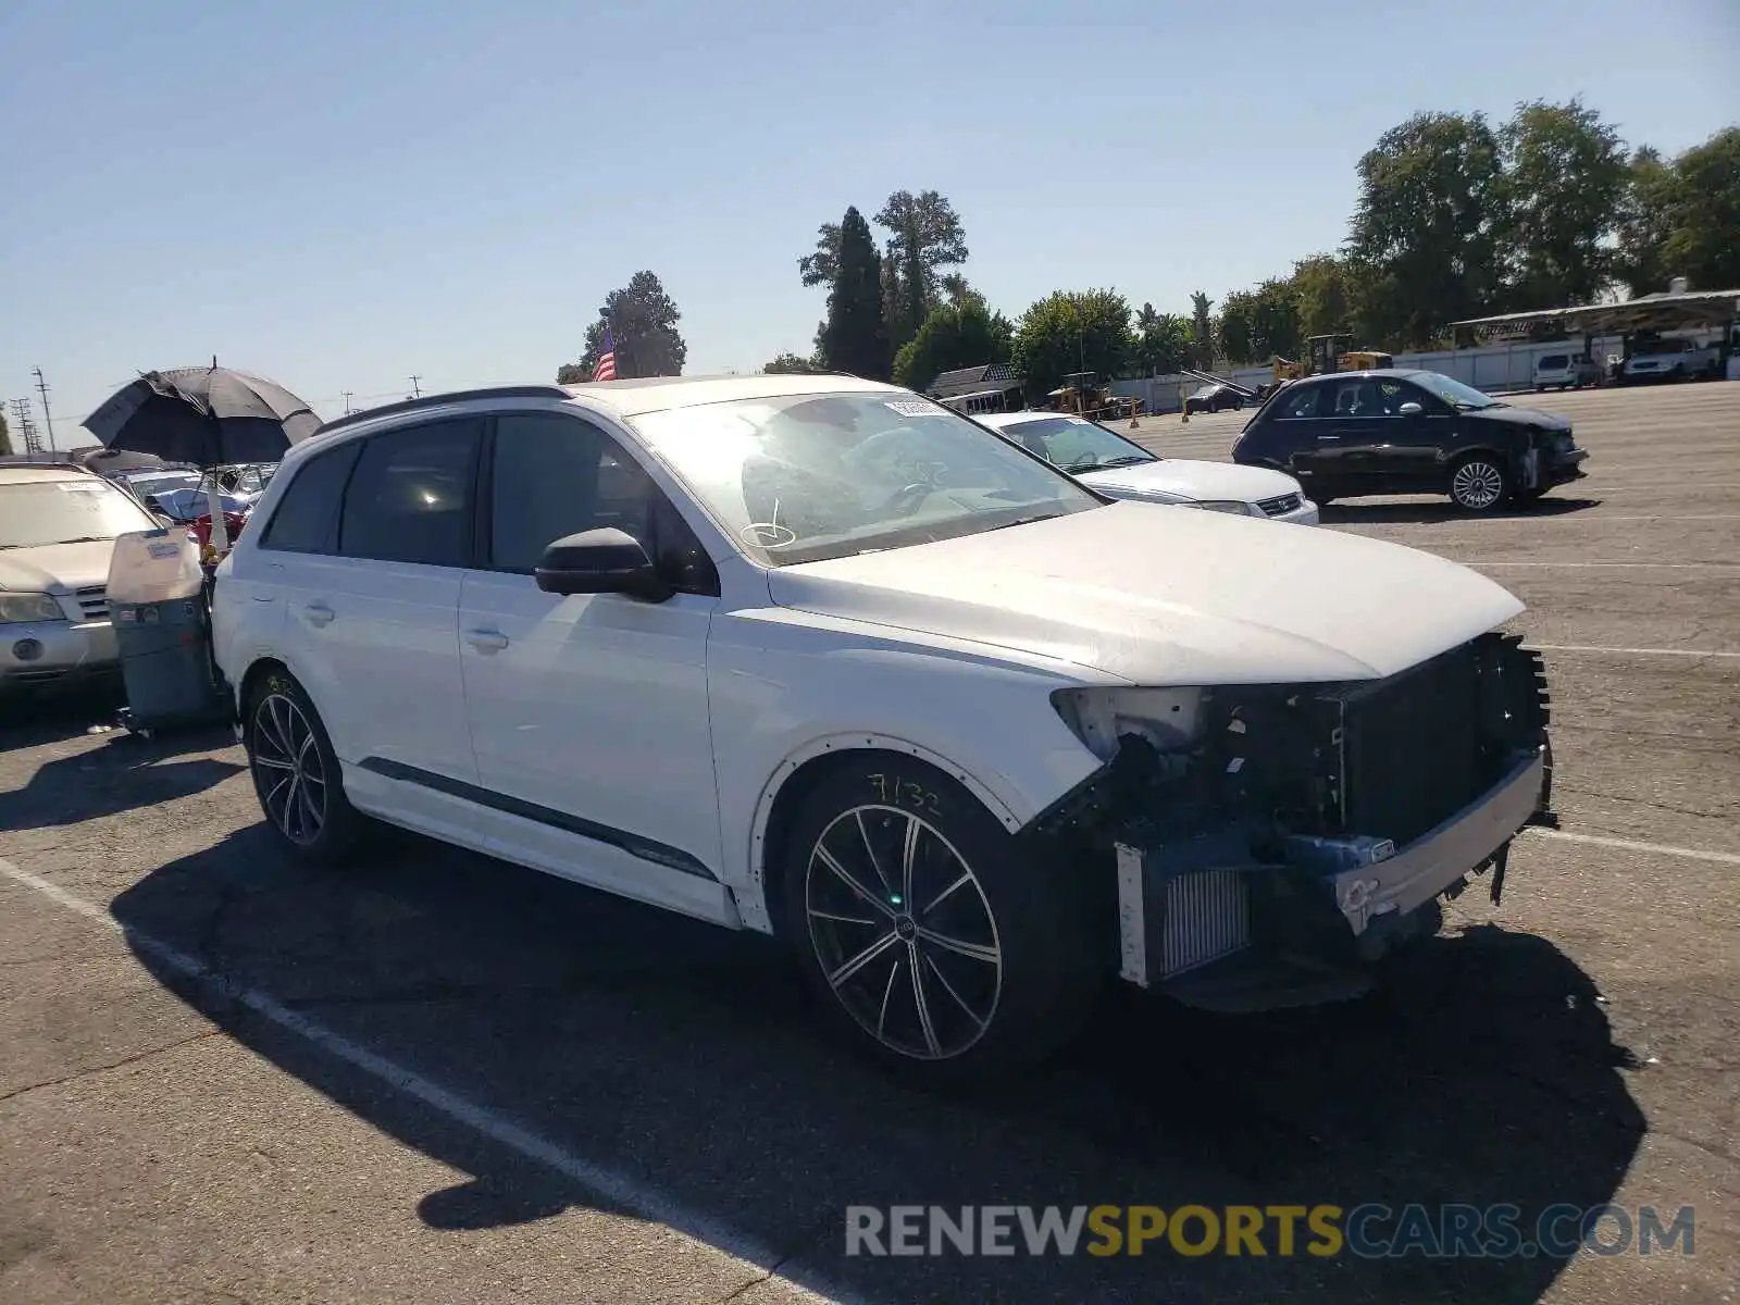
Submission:
M 1361 494 L 1449 494 L 1465 512 L 1536 499 L 1583 475 L 1571 423 L 1439 372 L 1312 376 L 1282 386 L 1232 459 L 1296 477 L 1319 505 Z

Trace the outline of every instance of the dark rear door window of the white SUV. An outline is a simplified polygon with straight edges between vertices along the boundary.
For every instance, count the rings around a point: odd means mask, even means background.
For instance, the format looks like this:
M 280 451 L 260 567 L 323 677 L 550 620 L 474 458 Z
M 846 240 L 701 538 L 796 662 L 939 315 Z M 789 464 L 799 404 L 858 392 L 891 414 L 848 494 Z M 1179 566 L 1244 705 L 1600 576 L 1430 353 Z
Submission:
M 372 435 L 345 491 L 345 557 L 463 567 L 472 559 L 472 499 L 480 418 Z

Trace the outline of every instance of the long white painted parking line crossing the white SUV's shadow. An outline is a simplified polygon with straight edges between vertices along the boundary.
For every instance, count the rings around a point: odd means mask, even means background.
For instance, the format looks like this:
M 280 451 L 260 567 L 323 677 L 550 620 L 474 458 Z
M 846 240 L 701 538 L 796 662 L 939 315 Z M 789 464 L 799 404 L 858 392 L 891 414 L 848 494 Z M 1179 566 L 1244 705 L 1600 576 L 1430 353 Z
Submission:
M 66 907 L 71 912 L 78 912 L 89 920 L 96 920 L 118 934 L 124 934 L 130 947 L 139 952 L 150 954 L 158 964 L 216 988 L 230 1000 L 240 1002 L 247 1009 L 254 1011 L 264 1020 L 278 1025 L 285 1032 L 296 1034 L 298 1037 L 313 1042 L 317 1047 L 325 1051 L 355 1070 L 367 1074 L 371 1079 L 379 1079 L 388 1088 L 411 1096 L 437 1114 L 445 1115 L 456 1124 L 478 1133 L 491 1141 L 506 1147 L 513 1154 L 553 1169 L 562 1174 L 576 1187 L 583 1187 L 588 1192 L 604 1197 L 606 1201 L 632 1211 L 633 1215 L 663 1223 L 666 1228 L 679 1232 L 691 1241 L 701 1242 L 706 1249 L 724 1255 L 727 1260 L 734 1260 L 745 1268 L 757 1270 L 760 1274 L 769 1274 L 781 1279 L 781 1282 L 790 1284 L 800 1298 L 813 1302 L 847 1302 L 849 1296 L 840 1295 L 833 1288 L 825 1291 L 818 1289 L 820 1284 L 807 1274 L 786 1275 L 774 1272 L 785 1256 L 778 1255 L 767 1246 L 745 1237 L 743 1234 L 729 1228 L 706 1215 L 696 1215 L 682 1206 L 675 1204 L 670 1197 L 659 1190 L 647 1187 L 646 1183 L 630 1178 L 616 1169 L 607 1169 L 602 1164 L 593 1164 L 592 1161 L 566 1150 L 555 1141 L 532 1133 L 512 1119 L 489 1110 L 487 1107 L 477 1105 L 458 1093 L 442 1088 L 421 1074 L 398 1065 L 369 1051 L 357 1042 L 351 1042 L 343 1034 L 336 1034 L 325 1025 L 310 1020 L 306 1014 L 289 1009 L 277 999 L 270 997 L 258 988 L 247 988 L 233 980 L 211 969 L 204 960 L 190 957 L 169 943 L 158 941 L 150 934 L 143 934 L 137 929 L 129 929 L 113 915 L 110 915 L 103 907 L 92 901 L 85 901 L 73 893 L 50 884 L 47 879 L 40 879 L 26 870 L 19 870 L 10 861 L 0 858 L 0 875 L 5 875 L 16 884 L 28 887 L 50 901 Z

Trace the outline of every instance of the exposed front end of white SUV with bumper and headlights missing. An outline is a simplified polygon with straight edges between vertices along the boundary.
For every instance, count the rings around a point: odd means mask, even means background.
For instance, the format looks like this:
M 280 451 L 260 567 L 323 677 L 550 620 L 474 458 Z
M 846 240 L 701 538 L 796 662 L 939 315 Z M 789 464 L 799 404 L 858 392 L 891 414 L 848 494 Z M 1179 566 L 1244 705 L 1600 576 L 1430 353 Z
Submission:
M 1382 680 L 1060 694 L 1105 766 L 1030 826 L 1103 868 L 1121 974 L 1239 1011 L 1357 995 L 1552 823 L 1540 654 L 1488 633 Z M 1115 910 L 1112 896 L 1115 893 Z

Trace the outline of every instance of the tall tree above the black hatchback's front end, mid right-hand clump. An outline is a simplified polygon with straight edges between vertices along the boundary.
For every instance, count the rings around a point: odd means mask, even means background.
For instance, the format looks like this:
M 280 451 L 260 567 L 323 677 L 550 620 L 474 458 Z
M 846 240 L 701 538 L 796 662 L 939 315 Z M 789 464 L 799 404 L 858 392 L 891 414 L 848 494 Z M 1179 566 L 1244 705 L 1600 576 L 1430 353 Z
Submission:
M 1524 310 L 1592 303 L 1613 275 L 1627 179 L 1618 130 L 1582 99 L 1533 101 L 1517 104 L 1498 141 L 1510 301 Z

